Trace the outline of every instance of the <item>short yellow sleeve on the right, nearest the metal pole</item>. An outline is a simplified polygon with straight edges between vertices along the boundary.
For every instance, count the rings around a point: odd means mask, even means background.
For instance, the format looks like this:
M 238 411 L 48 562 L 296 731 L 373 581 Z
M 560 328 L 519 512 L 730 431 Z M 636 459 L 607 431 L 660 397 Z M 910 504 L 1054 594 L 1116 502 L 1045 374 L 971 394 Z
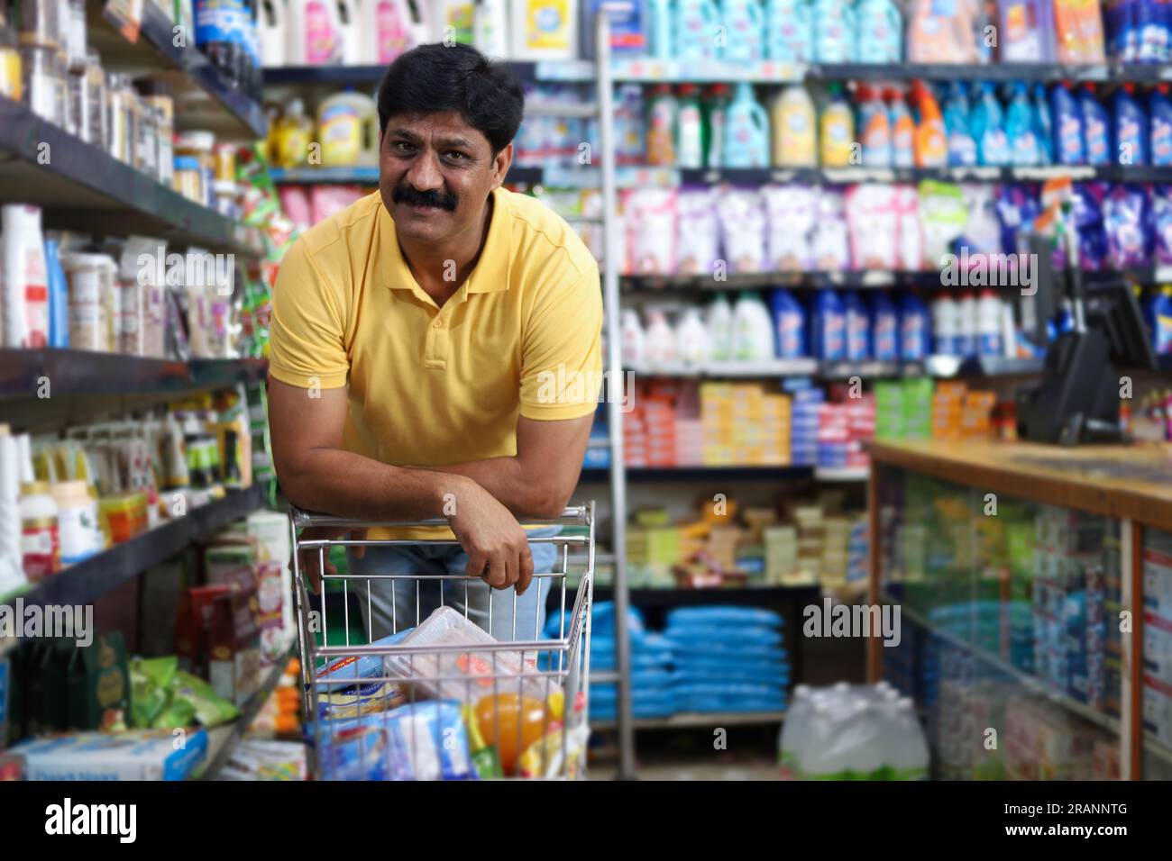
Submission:
M 541 289 L 523 334 L 520 415 L 556 421 L 594 412 L 602 384 L 601 339 L 597 266 Z

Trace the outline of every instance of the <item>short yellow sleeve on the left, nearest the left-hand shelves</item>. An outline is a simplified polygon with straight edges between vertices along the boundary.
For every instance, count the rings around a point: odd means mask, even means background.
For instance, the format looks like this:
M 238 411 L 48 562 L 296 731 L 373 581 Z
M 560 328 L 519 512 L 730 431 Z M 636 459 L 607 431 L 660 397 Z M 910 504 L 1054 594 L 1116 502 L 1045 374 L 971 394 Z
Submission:
M 274 380 L 308 389 L 346 385 L 346 315 L 336 285 L 314 266 L 305 240 L 286 252 L 273 285 L 268 370 Z

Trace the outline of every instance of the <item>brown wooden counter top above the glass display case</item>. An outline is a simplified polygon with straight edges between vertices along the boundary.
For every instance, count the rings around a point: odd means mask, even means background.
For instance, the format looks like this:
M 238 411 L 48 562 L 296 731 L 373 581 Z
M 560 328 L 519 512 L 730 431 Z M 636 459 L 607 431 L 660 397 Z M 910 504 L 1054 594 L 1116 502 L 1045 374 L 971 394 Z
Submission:
M 871 442 L 890 464 L 992 493 L 1131 518 L 1172 529 L 1172 445 L 1088 445 L 968 439 Z

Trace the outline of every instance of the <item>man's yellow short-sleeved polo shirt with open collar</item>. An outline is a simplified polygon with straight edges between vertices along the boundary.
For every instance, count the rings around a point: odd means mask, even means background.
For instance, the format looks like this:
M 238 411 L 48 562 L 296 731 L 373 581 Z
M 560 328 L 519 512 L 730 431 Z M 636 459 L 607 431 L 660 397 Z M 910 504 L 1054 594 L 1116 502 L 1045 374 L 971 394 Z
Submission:
M 545 204 L 492 194 L 481 258 L 442 308 L 411 275 L 379 192 L 315 225 L 281 261 L 270 373 L 305 389 L 349 387 L 347 451 L 416 466 L 511 457 L 518 416 L 594 411 L 598 265 Z

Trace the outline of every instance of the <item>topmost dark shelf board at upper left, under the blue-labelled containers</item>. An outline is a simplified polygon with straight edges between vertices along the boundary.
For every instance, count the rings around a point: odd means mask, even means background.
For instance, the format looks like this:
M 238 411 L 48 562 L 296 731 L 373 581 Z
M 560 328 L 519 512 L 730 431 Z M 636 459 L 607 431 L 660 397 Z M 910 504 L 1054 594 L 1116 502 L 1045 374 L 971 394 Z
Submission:
M 179 130 L 209 129 L 234 141 L 265 137 L 268 123 L 261 105 L 212 66 L 196 48 L 195 34 L 188 34 L 186 45 L 176 46 L 175 22 L 154 2 L 141 6 L 138 40 L 131 43 L 107 16 L 104 4 L 87 4 L 88 40 L 101 54 L 103 68 L 169 81 Z

